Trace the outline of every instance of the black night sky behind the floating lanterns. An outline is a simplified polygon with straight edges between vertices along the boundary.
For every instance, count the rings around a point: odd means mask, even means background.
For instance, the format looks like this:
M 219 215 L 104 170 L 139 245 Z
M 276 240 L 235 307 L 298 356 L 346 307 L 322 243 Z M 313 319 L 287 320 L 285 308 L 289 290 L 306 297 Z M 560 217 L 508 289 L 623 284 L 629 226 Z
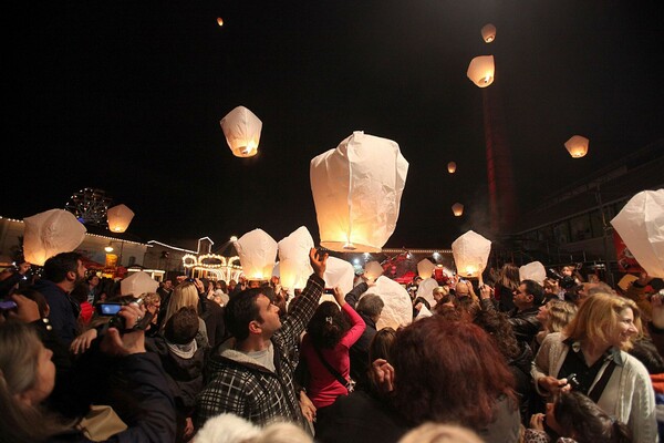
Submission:
M 309 162 L 364 131 L 411 164 L 385 246 L 448 247 L 486 229 L 481 90 L 466 78 L 485 54 L 521 209 L 664 136 L 661 0 L 14 3 L 6 217 L 95 187 L 136 213 L 143 240 L 222 244 L 257 227 L 280 240 L 304 225 L 318 243 Z M 238 105 L 263 122 L 252 158 L 219 127 Z M 563 147 L 574 134 L 590 138 L 584 158 Z

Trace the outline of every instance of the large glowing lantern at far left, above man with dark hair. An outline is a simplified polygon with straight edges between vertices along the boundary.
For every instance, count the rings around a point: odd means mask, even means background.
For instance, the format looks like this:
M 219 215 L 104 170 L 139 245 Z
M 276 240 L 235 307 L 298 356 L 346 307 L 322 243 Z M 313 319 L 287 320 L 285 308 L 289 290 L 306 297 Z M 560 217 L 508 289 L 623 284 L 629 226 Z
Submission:
M 23 255 L 25 261 L 43 266 L 60 253 L 70 253 L 85 238 L 85 226 L 64 209 L 51 209 L 23 219 Z

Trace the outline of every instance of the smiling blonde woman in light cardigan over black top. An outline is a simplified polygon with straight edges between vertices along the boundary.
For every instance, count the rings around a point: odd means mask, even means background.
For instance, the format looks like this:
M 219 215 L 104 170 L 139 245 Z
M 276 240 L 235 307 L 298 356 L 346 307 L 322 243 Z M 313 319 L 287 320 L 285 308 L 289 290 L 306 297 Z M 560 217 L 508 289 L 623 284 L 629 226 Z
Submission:
M 589 297 L 563 332 L 543 340 L 532 367 L 537 391 L 549 398 L 581 392 L 626 423 L 634 441 L 656 441 L 647 370 L 626 352 L 640 333 L 640 311 L 632 300 L 608 293 Z

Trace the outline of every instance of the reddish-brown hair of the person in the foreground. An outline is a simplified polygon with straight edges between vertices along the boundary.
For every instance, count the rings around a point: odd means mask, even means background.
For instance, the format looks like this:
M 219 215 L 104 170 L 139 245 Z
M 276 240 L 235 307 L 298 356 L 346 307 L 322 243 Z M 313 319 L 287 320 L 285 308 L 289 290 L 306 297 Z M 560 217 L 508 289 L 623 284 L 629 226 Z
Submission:
M 481 429 L 504 395 L 517 408 L 515 379 L 489 336 L 466 321 L 439 316 L 418 320 L 396 334 L 393 402 L 413 424 L 457 422 Z M 435 373 L 430 383 L 426 374 Z

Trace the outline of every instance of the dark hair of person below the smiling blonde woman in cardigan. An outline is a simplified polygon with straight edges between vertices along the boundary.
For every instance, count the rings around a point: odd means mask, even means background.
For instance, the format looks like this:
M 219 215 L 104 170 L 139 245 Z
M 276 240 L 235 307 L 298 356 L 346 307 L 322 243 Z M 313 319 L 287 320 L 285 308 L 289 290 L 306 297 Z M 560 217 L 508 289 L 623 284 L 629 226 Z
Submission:
M 566 436 L 578 443 L 631 443 L 627 426 L 611 418 L 581 392 L 561 393 L 553 410 L 556 421 Z

